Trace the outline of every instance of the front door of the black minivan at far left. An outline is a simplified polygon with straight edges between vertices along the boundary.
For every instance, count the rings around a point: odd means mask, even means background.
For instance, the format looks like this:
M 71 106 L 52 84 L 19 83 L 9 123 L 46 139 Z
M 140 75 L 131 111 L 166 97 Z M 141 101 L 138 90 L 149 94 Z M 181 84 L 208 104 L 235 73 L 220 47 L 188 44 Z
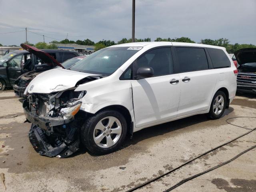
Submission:
M 11 86 L 14 85 L 14 81 L 21 75 L 22 57 L 23 55 L 17 55 L 8 61 L 7 73 Z

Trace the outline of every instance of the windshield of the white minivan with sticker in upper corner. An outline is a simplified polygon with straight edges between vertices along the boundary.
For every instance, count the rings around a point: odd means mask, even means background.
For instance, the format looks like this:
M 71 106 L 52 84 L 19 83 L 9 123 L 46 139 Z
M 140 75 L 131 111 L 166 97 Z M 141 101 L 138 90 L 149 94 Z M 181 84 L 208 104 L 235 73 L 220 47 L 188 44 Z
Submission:
M 109 47 L 99 50 L 74 64 L 70 70 L 111 75 L 142 47 Z

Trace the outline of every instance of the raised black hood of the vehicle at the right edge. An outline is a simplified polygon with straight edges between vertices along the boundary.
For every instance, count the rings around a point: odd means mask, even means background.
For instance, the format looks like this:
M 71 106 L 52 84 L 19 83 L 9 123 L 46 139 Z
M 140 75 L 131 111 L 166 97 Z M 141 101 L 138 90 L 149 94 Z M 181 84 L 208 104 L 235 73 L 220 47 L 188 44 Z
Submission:
M 256 48 L 240 49 L 234 54 L 239 65 L 256 62 Z

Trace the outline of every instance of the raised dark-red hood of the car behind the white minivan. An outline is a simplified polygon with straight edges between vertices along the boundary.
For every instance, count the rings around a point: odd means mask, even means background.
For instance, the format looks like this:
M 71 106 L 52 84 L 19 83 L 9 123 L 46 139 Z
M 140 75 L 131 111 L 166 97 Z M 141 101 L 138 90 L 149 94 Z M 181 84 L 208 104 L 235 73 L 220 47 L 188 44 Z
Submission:
M 28 51 L 28 52 L 36 55 L 38 58 L 42 59 L 48 65 L 50 65 L 52 67 L 60 66 L 60 67 L 64 68 L 56 59 L 54 59 L 54 57 L 50 56 L 50 54 L 48 54 L 40 49 L 37 49 L 35 47 L 32 47 L 30 45 L 20 44 L 20 46 L 22 48 L 24 48 L 26 51 Z

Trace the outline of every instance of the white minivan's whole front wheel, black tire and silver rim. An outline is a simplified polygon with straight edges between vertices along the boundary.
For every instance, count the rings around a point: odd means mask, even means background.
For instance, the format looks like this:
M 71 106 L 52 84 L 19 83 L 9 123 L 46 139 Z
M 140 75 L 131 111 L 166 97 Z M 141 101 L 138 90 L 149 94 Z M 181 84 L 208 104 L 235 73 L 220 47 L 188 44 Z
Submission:
M 84 122 L 80 136 L 82 144 L 90 152 L 102 155 L 117 150 L 126 133 L 127 122 L 124 116 L 115 110 L 104 110 Z

